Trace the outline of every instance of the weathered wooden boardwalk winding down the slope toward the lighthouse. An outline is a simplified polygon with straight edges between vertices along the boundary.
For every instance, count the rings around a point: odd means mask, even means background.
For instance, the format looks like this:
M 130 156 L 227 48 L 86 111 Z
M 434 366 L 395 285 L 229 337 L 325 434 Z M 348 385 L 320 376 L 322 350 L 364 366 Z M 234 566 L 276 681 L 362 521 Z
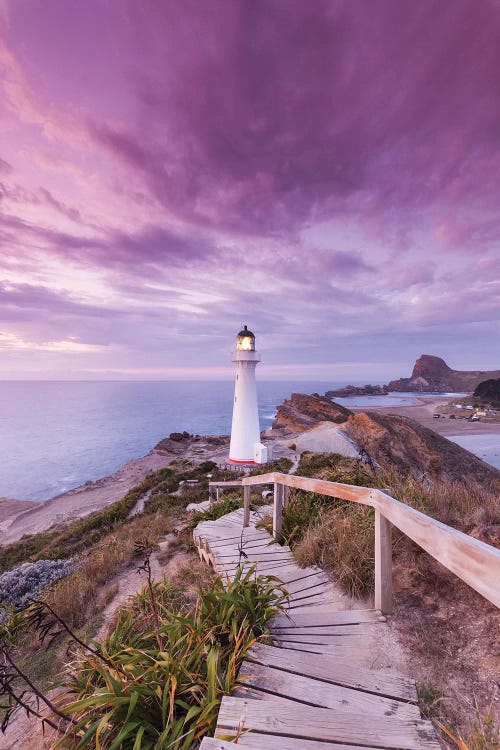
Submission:
M 262 510 L 262 509 L 260 509 Z M 238 687 L 224 697 L 215 738 L 202 750 L 438 750 L 423 720 L 415 683 L 366 668 L 385 618 L 347 608 L 319 568 L 299 568 L 290 549 L 273 543 L 243 510 L 194 531 L 200 556 L 221 574 L 257 566 L 276 575 L 290 593 L 288 616 L 271 626 L 273 646 L 256 644 L 243 662 Z

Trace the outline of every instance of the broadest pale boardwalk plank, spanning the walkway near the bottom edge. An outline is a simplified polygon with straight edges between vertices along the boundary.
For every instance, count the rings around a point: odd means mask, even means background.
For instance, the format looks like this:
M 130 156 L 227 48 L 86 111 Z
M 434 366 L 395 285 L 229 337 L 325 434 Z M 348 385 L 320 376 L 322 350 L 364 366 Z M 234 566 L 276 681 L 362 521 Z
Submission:
M 370 717 L 337 709 L 288 706 L 271 701 L 247 701 L 224 696 L 216 735 L 238 729 L 257 730 L 282 737 L 348 742 L 395 750 L 422 750 L 421 739 L 433 740 L 428 721 Z M 436 742 L 436 748 L 439 744 Z

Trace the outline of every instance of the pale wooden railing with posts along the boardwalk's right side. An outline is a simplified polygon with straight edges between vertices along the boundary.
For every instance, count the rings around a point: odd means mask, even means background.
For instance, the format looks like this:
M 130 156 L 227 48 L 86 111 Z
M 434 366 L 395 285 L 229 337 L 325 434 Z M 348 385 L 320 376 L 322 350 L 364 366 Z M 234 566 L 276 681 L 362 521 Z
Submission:
M 410 508 L 391 497 L 387 491 L 280 473 L 244 477 L 238 482 L 210 482 L 210 491 L 214 488 L 242 487 L 244 526 L 248 526 L 251 488 L 260 485 L 274 486 L 275 538 L 281 534 L 283 508 L 286 507 L 291 488 L 374 508 L 376 609 L 386 614 L 392 611 L 392 526 L 406 534 L 485 599 L 500 607 L 500 550 Z

